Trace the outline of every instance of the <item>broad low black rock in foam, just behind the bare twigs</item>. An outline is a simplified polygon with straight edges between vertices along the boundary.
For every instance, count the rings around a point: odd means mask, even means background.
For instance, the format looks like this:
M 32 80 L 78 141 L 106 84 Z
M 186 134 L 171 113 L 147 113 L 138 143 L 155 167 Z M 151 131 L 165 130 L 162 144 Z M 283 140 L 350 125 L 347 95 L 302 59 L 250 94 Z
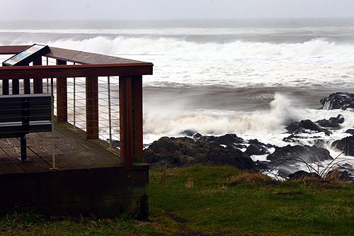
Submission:
M 329 150 L 321 147 L 308 145 L 287 145 L 285 147 L 278 147 L 275 152 L 268 154 L 267 159 L 273 162 L 284 162 L 287 164 L 295 164 L 297 162 L 322 162 L 324 160 L 333 159 Z

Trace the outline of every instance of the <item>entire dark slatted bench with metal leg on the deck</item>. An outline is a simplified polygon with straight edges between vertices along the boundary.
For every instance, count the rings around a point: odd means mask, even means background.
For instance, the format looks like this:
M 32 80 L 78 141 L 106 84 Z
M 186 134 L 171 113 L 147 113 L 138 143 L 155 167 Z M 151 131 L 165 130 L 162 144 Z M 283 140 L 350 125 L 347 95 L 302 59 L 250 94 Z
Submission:
M 52 131 L 51 120 L 50 94 L 0 96 L 0 138 L 21 138 L 21 161 L 28 160 L 26 134 Z

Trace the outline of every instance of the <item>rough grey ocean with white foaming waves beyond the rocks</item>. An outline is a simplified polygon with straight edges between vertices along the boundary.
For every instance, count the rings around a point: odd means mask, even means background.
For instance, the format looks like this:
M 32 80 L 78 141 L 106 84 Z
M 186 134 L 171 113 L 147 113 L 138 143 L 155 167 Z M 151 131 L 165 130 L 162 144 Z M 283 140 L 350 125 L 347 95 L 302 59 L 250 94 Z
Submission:
M 354 93 L 353 19 L 1 23 L 0 45 L 32 43 L 153 62 L 145 143 L 195 130 L 284 146 L 289 120 L 341 113 L 341 129 L 324 137 L 336 157 L 331 142 L 354 128 L 353 111 L 318 109 L 333 92 Z

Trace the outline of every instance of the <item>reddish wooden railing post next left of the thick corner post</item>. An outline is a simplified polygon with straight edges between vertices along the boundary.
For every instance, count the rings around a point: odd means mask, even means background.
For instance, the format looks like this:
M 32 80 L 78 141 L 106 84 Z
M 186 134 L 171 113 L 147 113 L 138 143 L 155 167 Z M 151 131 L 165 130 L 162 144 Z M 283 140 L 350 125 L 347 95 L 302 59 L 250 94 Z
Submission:
M 98 138 L 98 78 L 86 77 L 86 138 Z

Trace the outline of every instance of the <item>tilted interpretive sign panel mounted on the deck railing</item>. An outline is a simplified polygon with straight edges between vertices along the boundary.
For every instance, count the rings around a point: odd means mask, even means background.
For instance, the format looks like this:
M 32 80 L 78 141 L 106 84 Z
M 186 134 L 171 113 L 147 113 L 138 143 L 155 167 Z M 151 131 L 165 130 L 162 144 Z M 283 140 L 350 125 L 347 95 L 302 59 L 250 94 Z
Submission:
M 35 57 L 41 57 L 45 53 L 49 52 L 50 48 L 47 45 L 34 44 L 30 47 L 27 47 L 22 52 L 13 57 L 8 58 L 3 62 L 3 66 L 18 66 L 18 65 L 27 65 L 33 61 Z

